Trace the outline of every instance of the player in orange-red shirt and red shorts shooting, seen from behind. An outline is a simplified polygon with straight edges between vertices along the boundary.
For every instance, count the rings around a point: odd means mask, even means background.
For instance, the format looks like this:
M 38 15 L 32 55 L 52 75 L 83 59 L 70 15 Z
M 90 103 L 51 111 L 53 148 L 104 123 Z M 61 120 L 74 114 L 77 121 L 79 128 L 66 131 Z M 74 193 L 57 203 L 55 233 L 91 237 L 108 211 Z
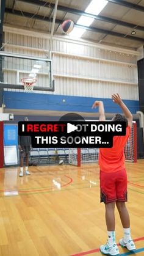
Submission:
M 127 175 L 124 165 L 124 145 L 131 133 L 132 114 L 118 93 L 113 94 L 112 99 L 124 113 L 124 117 L 117 114 L 112 121 L 124 121 L 127 127 L 125 136 L 113 137 L 112 148 L 99 148 L 101 202 L 105 203 L 108 235 L 107 243 L 100 246 L 100 251 L 106 255 L 118 255 L 120 253 L 115 242 L 115 205 L 120 214 L 124 231 L 123 238 L 119 243 L 129 251 L 135 249 L 135 244 L 131 238 L 129 213 L 125 205 L 127 201 Z M 95 101 L 92 108 L 96 107 L 99 108 L 99 121 L 105 121 L 103 101 Z

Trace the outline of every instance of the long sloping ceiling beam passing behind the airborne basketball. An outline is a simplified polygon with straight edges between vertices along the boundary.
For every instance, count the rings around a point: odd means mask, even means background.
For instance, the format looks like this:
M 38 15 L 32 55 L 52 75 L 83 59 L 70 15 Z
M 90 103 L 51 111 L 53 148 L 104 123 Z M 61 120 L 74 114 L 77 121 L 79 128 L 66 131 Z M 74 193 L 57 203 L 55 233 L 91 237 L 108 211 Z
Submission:
M 10 13 L 12 15 L 22 16 L 22 13 L 19 10 L 12 10 L 10 8 L 5 8 L 5 12 Z M 52 21 L 51 18 L 49 18 L 49 17 L 43 18 L 43 16 L 41 16 L 41 15 L 35 15 L 34 16 L 34 13 L 23 12 L 23 15 L 27 18 L 32 18 L 32 19 L 35 19 L 35 20 L 48 21 L 48 22 Z M 62 24 L 63 20 L 56 19 L 56 23 Z M 131 35 L 125 35 L 125 34 L 121 34 L 121 33 L 118 33 L 118 32 L 109 31 L 109 30 L 106 30 L 106 29 L 99 29 L 98 27 L 92 27 L 92 26 L 86 27 L 86 26 L 81 26 L 81 25 L 78 25 L 78 24 L 74 24 L 74 26 L 80 27 L 82 29 L 86 29 L 88 31 L 98 32 L 98 33 L 101 33 L 101 34 L 114 35 L 116 37 L 129 38 L 131 40 L 137 40 L 137 41 L 140 41 L 140 42 L 144 42 L 144 38 L 133 37 Z

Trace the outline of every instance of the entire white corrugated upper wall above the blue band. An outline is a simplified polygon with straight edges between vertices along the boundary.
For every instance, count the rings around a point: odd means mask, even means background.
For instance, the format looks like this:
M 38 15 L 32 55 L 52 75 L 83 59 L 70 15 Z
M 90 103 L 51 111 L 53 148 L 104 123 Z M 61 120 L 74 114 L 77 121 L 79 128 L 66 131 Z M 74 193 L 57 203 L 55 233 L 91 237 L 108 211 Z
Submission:
M 5 51 L 46 57 L 48 49 L 49 38 L 5 32 Z M 55 75 L 56 88 L 54 94 L 110 98 L 113 92 L 119 92 L 124 99 L 139 99 L 137 66 L 134 65 L 137 64 L 136 54 L 126 53 L 126 49 L 117 51 L 109 50 L 107 46 L 106 49 L 102 49 L 101 45 L 70 42 L 67 38 L 54 38 L 52 51 L 52 72 Z M 15 80 L 12 70 L 9 73 L 5 71 L 4 76 L 9 82 Z M 39 82 L 41 79 L 46 83 L 46 77 L 40 78 Z M 96 79 L 99 81 L 95 81 Z

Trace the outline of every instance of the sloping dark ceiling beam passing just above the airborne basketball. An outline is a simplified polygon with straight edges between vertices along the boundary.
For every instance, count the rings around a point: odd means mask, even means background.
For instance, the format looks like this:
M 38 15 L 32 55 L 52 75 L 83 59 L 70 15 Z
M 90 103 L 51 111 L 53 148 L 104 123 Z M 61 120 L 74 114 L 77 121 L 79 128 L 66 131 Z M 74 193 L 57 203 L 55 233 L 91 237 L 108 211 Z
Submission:
M 18 0 L 18 1 L 28 2 L 29 4 L 34 4 L 34 5 L 36 4 L 36 5 L 39 5 L 41 7 L 43 5 L 45 5 L 45 7 L 50 7 L 52 9 L 54 8 L 54 4 L 51 4 L 50 2 L 46 2 L 46 1 L 43 1 L 43 2 L 41 2 L 40 0 Z M 124 27 L 131 27 L 131 29 L 134 29 L 136 27 L 136 29 L 144 31 L 144 27 L 143 26 L 138 26 L 137 24 L 132 24 L 132 23 L 128 23 L 128 22 L 125 22 L 125 21 L 121 21 L 121 20 L 115 20 L 113 18 L 108 18 L 108 17 L 102 16 L 102 15 L 93 15 L 91 13 L 86 13 L 82 10 L 73 9 L 73 8 L 70 8 L 70 7 L 62 6 L 62 5 L 58 5 L 57 10 L 61 10 L 62 12 L 73 13 L 73 14 L 76 14 L 76 15 L 87 16 L 87 17 L 90 17 L 90 18 L 94 18 L 95 20 L 100 20 L 100 21 L 104 21 L 104 22 L 107 22 L 107 23 L 117 24 L 117 25 L 121 25 L 121 26 L 124 26 Z

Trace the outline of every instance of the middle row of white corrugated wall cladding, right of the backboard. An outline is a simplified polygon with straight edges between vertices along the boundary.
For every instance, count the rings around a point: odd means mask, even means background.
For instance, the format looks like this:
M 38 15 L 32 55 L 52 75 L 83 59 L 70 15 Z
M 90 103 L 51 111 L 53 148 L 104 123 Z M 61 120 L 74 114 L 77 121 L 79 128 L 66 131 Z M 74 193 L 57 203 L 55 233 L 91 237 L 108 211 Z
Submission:
M 54 54 L 54 74 L 137 83 L 137 67 Z

